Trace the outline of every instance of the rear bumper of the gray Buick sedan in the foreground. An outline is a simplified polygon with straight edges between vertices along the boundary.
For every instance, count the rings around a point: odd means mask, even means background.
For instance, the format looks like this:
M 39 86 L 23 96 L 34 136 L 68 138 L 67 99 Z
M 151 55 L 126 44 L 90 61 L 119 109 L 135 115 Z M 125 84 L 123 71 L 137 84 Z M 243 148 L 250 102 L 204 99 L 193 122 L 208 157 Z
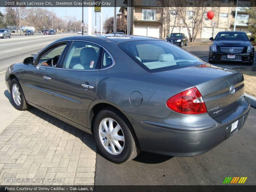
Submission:
M 240 130 L 249 109 L 250 101 L 244 96 L 241 104 L 234 108 L 229 116 L 226 115 L 227 121 L 220 124 L 208 116 L 204 122 L 209 120 L 209 124 L 197 126 L 166 124 L 163 119 L 125 112 L 124 114 L 128 116 L 134 128 L 142 151 L 169 156 L 196 156 L 216 147 Z M 207 118 L 207 115 L 204 114 L 204 118 Z M 172 122 L 172 113 L 168 118 Z M 237 120 L 237 128 L 231 132 L 231 125 Z M 182 121 L 183 119 L 180 119 L 180 122 Z

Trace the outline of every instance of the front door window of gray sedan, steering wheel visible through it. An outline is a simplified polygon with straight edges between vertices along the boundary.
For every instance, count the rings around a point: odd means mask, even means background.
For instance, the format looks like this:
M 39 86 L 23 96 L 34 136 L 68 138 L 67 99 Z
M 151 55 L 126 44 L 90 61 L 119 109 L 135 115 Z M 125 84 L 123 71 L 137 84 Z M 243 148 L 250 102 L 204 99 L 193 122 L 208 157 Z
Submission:
M 60 55 L 66 46 L 67 42 L 64 42 L 46 49 L 43 54 L 39 56 L 36 65 L 56 67 Z

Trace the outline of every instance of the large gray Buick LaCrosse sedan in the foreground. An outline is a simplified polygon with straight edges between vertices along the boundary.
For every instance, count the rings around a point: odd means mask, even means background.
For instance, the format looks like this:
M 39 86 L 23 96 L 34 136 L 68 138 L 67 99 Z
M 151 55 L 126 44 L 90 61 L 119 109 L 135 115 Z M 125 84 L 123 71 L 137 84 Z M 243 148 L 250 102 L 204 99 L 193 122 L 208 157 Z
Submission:
M 34 106 L 94 134 L 115 163 L 140 150 L 203 154 L 236 134 L 250 108 L 241 72 L 141 36 L 61 38 L 11 65 L 5 83 L 16 109 Z

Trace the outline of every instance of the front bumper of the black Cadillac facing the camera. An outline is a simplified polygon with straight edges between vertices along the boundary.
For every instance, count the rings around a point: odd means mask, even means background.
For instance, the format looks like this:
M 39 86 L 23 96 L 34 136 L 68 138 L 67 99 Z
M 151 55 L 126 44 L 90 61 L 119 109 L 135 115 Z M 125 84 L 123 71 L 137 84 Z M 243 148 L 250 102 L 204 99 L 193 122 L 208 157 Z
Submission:
M 229 59 L 228 55 L 235 55 L 235 59 Z M 254 60 L 253 53 L 209 53 L 210 61 L 233 61 L 233 62 L 252 62 Z

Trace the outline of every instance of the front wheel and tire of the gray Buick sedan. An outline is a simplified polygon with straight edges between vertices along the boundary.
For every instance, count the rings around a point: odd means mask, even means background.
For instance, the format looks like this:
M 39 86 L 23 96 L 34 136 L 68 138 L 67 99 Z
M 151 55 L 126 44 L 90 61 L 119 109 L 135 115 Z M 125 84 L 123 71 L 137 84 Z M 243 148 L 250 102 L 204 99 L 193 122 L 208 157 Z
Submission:
M 15 92 L 14 92 L 15 87 L 18 89 L 18 92 L 20 93 L 20 95 L 15 94 Z M 16 108 L 20 111 L 24 111 L 29 108 L 29 105 L 27 104 L 24 94 L 23 94 L 23 91 L 21 89 L 20 83 L 16 78 L 13 78 L 11 81 L 10 92 L 11 92 L 11 97 L 12 97 L 12 102 L 13 102 L 14 108 Z M 18 96 L 20 96 L 20 97 L 18 97 Z

